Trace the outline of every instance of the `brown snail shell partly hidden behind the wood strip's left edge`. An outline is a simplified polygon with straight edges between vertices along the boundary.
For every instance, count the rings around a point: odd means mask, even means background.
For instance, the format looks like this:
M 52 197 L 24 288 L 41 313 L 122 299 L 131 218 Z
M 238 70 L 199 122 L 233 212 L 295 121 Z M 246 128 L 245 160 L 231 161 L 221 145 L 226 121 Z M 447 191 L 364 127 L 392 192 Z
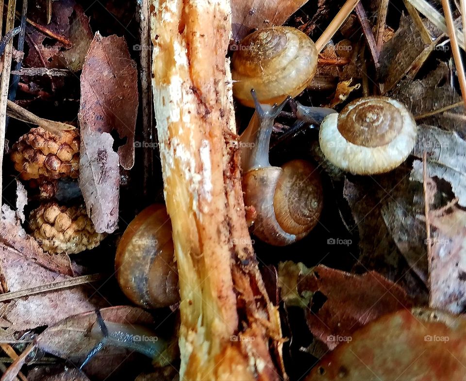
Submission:
M 179 301 L 171 223 L 166 208 L 154 204 L 128 225 L 116 249 L 116 279 L 125 295 L 142 307 Z

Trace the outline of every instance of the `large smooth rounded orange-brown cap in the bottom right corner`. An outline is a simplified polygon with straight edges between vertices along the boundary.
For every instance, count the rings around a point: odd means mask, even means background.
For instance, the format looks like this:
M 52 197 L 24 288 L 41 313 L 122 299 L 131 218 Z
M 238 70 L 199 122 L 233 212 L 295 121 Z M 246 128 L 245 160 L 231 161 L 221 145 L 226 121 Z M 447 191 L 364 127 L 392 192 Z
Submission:
M 326 355 L 305 381 L 462 380 L 466 319 L 401 310 L 366 325 Z

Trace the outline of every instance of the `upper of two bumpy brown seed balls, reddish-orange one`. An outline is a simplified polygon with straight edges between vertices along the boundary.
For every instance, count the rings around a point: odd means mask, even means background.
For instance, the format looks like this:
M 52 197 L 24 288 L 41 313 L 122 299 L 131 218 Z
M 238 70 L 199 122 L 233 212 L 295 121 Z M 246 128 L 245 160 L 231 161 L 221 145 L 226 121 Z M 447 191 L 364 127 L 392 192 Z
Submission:
M 23 180 L 48 177 L 77 178 L 80 138 L 77 129 L 55 135 L 42 127 L 32 128 L 13 145 L 11 159 Z

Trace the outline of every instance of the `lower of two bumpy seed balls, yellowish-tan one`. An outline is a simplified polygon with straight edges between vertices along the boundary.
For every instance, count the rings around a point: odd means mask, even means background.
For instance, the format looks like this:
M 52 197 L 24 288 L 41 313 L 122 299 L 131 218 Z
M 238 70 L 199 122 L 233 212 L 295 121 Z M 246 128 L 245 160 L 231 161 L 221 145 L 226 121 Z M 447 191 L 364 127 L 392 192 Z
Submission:
M 50 202 L 31 212 L 33 237 L 52 254 L 76 254 L 93 249 L 105 237 L 94 229 L 84 206 L 60 206 Z

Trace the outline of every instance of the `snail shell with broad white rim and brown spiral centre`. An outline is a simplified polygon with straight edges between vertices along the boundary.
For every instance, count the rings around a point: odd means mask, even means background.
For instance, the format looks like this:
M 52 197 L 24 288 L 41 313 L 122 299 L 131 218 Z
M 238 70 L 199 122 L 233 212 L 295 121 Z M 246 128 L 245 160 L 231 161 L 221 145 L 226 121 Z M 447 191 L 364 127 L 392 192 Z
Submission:
M 319 143 L 335 166 L 356 175 L 374 175 L 389 172 L 406 160 L 416 133 L 416 121 L 403 104 L 370 96 L 325 117 Z

